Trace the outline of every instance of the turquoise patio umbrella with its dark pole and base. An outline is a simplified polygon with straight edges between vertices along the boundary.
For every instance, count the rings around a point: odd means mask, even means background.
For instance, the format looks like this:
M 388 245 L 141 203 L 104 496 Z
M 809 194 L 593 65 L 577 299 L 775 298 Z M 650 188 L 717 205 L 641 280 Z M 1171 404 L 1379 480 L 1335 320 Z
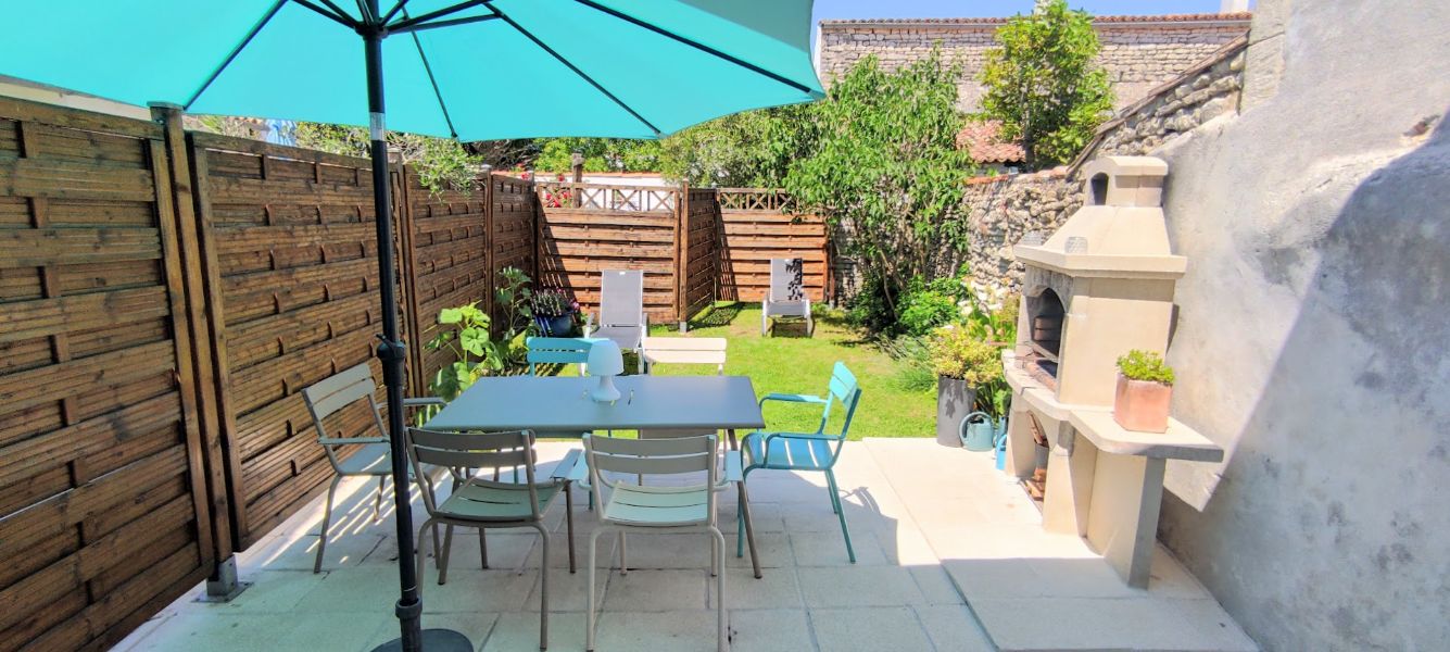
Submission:
M 344 6 L 345 4 L 345 6 Z M 367 126 L 397 501 L 402 649 L 422 649 L 384 129 L 660 138 L 822 97 L 812 0 L 30 0 L 0 74 L 191 113 Z M 384 86 L 384 80 L 387 81 Z M 384 110 L 384 107 L 390 110 Z M 465 645 L 429 630 L 431 649 Z

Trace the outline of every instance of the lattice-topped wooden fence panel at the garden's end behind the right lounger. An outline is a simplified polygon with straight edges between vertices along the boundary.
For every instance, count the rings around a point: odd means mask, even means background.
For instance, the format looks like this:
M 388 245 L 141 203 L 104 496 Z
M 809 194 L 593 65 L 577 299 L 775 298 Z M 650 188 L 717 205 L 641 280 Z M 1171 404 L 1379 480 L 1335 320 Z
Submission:
M 826 224 L 793 212 L 790 196 L 768 189 L 721 189 L 719 298 L 761 301 L 771 258 L 805 261 L 806 293 L 825 301 L 829 286 Z

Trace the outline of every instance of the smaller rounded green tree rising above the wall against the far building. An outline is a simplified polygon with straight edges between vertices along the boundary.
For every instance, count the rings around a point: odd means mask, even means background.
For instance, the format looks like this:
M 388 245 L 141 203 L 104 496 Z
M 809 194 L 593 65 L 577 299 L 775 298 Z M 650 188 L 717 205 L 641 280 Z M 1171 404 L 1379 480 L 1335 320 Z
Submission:
M 1067 9 L 1067 0 L 1038 0 L 996 39 L 1000 46 L 986 52 L 982 68 L 983 116 L 1002 121 L 1002 136 L 1022 142 L 1030 168 L 1070 161 L 1112 112 L 1092 17 Z

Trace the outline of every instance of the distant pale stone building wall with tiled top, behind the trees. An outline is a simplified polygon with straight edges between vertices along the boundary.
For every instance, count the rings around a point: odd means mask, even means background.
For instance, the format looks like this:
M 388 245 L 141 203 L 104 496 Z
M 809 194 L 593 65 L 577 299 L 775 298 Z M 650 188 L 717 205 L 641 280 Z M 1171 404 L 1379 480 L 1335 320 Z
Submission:
M 1159 84 L 1244 36 L 1248 20 L 1248 13 L 1093 19 L 1102 42 L 1099 61 L 1118 94 L 1115 106 L 1134 105 Z M 948 60 L 963 67 L 957 84 L 960 107 L 976 110 L 983 93 L 977 76 L 986 51 L 996 45 L 996 30 L 1005 23 L 1006 19 L 822 20 L 816 71 L 829 84 L 867 54 L 876 54 L 884 68 L 895 70 L 925 58 L 941 44 Z

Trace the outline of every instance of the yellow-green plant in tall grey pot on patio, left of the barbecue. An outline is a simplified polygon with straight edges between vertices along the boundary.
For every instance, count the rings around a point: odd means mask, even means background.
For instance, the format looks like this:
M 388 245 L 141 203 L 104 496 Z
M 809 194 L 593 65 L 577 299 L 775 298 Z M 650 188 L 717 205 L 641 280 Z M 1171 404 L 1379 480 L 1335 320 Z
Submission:
M 961 420 L 992 405 L 1002 380 L 999 349 L 967 328 L 944 327 L 932 335 L 931 366 L 937 372 L 937 443 L 960 447 Z

